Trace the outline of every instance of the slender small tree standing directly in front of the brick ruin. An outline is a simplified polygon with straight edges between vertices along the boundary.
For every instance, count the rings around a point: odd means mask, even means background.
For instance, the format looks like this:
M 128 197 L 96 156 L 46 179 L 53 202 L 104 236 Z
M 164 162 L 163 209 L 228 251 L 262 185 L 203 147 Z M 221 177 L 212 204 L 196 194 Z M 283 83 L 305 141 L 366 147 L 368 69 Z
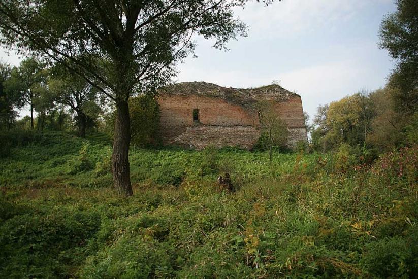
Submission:
M 273 148 L 286 145 L 289 131 L 286 123 L 280 118 L 274 108 L 274 104 L 271 102 L 259 103 L 259 121 L 262 136 L 266 138 L 269 159 L 271 161 Z

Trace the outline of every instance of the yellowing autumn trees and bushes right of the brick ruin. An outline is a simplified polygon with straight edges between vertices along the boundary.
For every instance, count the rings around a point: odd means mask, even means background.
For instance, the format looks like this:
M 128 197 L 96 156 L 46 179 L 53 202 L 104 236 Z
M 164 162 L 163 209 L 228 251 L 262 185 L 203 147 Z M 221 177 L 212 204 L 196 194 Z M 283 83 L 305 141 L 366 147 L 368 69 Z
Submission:
M 319 106 L 308 125 L 311 148 L 338 150 L 342 145 L 378 154 L 418 143 L 418 113 L 401 110 L 399 89 L 359 92 Z

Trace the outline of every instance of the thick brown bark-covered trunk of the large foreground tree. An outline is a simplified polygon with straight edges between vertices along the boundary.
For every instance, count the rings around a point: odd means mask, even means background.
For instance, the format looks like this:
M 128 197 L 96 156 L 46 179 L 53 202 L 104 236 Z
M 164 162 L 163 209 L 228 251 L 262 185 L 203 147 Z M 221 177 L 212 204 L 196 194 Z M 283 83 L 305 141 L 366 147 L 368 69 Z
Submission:
M 116 120 L 113 139 L 113 183 L 119 195 L 132 196 L 129 169 L 129 143 L 131 141 L 128 97 L 116 101 Z

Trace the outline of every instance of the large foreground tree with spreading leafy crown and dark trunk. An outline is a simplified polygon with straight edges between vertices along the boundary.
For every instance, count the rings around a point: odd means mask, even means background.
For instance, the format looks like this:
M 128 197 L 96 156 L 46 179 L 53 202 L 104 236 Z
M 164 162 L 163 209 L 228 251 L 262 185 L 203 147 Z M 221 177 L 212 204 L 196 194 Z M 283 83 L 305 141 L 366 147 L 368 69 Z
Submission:
M 2 0 L 1 40 L 66 65 L 115 102 L 113 180 L 128 196 L 128 98 L 170 81 L 176 63 L 194 50 L 193 34 L 214 38 L 217 48 L 245 35 L 232 9 L 247 1 Z M 98 71 L 103 61 L 106 71 Z

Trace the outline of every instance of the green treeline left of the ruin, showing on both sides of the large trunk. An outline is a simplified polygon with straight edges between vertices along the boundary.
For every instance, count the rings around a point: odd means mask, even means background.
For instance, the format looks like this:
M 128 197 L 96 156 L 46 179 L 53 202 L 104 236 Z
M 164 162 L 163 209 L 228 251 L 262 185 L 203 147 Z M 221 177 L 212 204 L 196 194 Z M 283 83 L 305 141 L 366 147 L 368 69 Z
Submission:
M 151 95 L 129 102 L 134 145 L 158 144 L 158 103 Z M 18 119 L 18 111 L 29 115 Z M 67 131 L 80 137 L 104 132 L 113 137 L 114 104 L 85 79 L 60 66 L 48 67 L 34 58 L 18 67 L 0 64 L 0 131 Z

